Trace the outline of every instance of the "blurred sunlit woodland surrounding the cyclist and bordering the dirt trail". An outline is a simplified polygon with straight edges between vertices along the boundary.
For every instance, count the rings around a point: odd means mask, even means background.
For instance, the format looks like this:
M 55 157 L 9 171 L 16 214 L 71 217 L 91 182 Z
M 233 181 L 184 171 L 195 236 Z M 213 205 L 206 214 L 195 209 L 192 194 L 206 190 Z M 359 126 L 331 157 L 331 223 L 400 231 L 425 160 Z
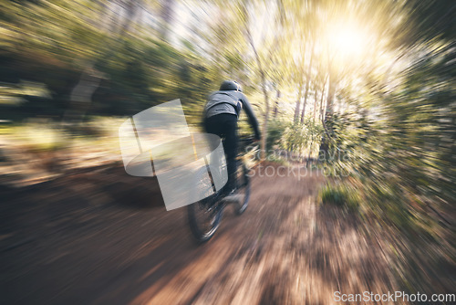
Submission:
M 91 192 L 119 192 L 122 121 L 181 99 L 200 129 L 207 95 L 235 79 L 261 123 L 263 160 L 324 171 L 316 202 L 384 234 L 398 287 L 456 292 L 453 1 L 15 0 L 0 8 L 2 264 L 29 259 L 8 257 L 38 238 L 25 227 L 39 232 L 66 213 L 36 220 L 46 200 L 92 206 L 74 195 L 88 181 L 69 175 L 112 171 L 90 180 L 104 185 Z M 245 121 L 240 128 L 250 132 Z M 36 196 L 56 184 L 74 194 Z M 135 195 L 125 201 L 162 205 L 160 193 L 129 185 Z M 74 221 L 64 218 L 49 232 Z M 8 268 L 2 282 L 21 287 L 19 267 Z

